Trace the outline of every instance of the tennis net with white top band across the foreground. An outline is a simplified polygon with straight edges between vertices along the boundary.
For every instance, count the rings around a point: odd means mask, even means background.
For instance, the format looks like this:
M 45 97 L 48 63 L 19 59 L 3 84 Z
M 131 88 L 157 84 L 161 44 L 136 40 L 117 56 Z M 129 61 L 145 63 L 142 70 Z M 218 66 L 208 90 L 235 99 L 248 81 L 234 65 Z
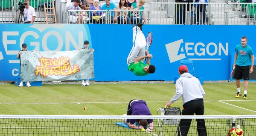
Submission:
M 153 119 L 153 131 L 129 129 L 123 119 Z M 57 116 L 0 115 L 0 136 L 178 136 L 180 120 L 191 120 L 188 136 L 198 136 L 204 121 L 207 136 L 228 136 L 232 127 L 256 136 L 256 115 L 244 116 Z M 198 121 L 198 122 L 197 122 Z M 180 128 L 181 129 L 181 128 Z M 199 129 L 200 133 L 200 129 Z M 183 136 L 183 134 L 181 134 Z M 232 136 L 232 135 L 231 135 Z M 234 135 L 236 136 L 236 135 Z

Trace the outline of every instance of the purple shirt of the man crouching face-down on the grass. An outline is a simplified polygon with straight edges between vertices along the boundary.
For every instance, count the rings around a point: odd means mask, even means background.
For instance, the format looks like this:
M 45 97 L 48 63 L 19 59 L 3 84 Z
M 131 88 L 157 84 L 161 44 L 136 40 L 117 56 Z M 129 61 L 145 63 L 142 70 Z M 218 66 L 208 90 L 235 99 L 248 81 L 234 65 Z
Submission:
M 134 101 L 131 103 L 131 115 L 152 115 L 148 109 L 148 105 L 146 104 L 145 101 L 140 100 L 140 101 Z M 147 119 L 148 124 L 153 122 L 153 119 Z M 129 119 L 129 123 L 134 124 L 138 122 L 139 119 Z

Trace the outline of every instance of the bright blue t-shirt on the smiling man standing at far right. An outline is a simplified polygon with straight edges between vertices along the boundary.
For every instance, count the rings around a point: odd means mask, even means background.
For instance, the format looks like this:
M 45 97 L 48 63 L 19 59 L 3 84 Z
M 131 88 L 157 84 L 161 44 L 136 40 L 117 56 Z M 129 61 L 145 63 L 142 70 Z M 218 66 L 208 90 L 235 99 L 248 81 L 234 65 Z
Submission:
M 236 45 L 236 54 L 238 57 L 236 59 L 236 65 L 247 66 L 251 65 L 251 56 L 253 55 L 253 50 L 249 45 L 243 47 L 241 44 Z

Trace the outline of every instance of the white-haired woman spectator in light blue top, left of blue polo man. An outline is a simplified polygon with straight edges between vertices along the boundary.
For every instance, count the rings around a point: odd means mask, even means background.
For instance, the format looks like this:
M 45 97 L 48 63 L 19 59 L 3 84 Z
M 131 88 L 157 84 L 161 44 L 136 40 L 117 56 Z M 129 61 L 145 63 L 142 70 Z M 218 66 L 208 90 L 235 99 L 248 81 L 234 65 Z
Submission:
M 99 6 L 99 0 L 93 0 L 93 6 L 90 10 L 102 10 Z M 103 23 L 105 20 L 102 18 L 102 11 L 90 11 L 90 23 Z

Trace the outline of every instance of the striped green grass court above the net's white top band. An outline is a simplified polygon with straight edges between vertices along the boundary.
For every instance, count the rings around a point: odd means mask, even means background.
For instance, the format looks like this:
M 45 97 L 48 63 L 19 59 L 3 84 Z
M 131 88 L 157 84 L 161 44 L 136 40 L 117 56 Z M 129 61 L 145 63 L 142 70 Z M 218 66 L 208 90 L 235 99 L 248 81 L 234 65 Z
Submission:
M 131 99 L 145 100 L 151 113 L 157 115 L 157 109 L 175 94 L 175 84 L 91 84 L 83 87 L 63 83 L 30 88 L 0 85 L 0 88 L 0 114 L 27 115 L 122 115 Z M 235 83 L 205 83 L 203 88 L 205 115 L 256 113 L 256 106 L 252 106 L 256 101 L 256 83 L 249 84 L 248 100 L 235 98 Z M 182 108 L 182 98 L 174 105 Z

